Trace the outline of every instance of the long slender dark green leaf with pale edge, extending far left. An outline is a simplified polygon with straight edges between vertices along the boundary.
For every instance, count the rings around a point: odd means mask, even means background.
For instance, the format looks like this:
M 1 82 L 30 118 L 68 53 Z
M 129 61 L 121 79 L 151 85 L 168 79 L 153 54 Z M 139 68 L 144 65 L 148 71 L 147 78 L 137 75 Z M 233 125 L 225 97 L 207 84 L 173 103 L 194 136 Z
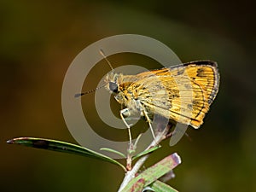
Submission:
M 21 144 L 21 145 L 25 145 L 27 147 L 32 147 L 32 148 L 44 148 L 47 150 L 58 151 L 58 152 L 67 153 L 67 154 L 79 154 L 82 156 L 95 158 L 97 160 L 104 160 L 114 165 L 118 165 L 122 167 L 126 172 L 125 166 L 120 164 L 118 161 L 113 160 L 112 158 L 104 154 L 99 154 L 93 150 L 90 150 L 89 148 L 84 148 L 79 145 L 75 145 L 73 143 L 66 143 L 66 142 L 56 141 L 52 139 L 35 138 L 35 137 L 14 138 L 7 141 L 7 143 Z

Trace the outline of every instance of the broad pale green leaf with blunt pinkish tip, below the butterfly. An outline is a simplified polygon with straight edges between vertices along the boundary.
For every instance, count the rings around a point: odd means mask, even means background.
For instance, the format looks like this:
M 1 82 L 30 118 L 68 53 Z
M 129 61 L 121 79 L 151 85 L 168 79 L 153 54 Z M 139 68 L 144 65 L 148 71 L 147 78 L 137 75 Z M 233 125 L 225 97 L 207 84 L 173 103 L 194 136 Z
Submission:
M 158 163 L 156 163 L 154 166 L 150 166 L 148 169 L 146 169 L 144 172 L 139 174 L 137 177 L 134 177 L 131 179 L 131 182 L 129 182 L 125 189 L 122 190 L 122 192 L 130 192 L 132 187 L 139 179 L 144 179 L 145 184 L 144 186 L 148 186 L 149 184 L 153 183 L 158 178 L 165 175 L 167 172 L 170 172 L 173 168 L 175 168 L 177 165 L 181 163 L 180 157 L 174 153 L 170 154 L 163 160 L 160 160 Z

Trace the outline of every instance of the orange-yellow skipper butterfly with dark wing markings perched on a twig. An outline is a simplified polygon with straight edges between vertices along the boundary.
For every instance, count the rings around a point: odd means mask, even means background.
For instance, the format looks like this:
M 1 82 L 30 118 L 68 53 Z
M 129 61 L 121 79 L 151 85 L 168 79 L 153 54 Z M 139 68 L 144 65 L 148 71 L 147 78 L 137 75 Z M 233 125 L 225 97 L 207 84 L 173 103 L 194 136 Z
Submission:
M 154 114 L 199 128 L 218 93 L 219 73 L 215 61 L 191 61 L 177 66 L 124 75 L 108 73 L 105 88 L 113 93 L 128 130 L 125 117 L 133 113 L 148 121 L 152 130 Z M 131 140 L 131 132 L 129 132 Z

